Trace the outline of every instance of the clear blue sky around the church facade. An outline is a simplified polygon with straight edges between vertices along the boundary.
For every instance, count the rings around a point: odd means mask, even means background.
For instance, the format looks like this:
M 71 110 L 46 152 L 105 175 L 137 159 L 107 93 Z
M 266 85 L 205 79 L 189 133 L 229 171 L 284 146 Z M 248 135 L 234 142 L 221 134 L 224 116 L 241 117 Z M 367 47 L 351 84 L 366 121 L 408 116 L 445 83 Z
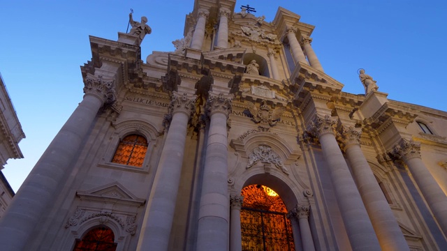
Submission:
M 389 99 L 447 110 L 447 1 L 237 1 L 271 22 L 282 6 L 316 26 L 312 47 L 325 73 L 363 93 L 358 68 L 374 77 Z M 148 19 L 152 34 L 142 59 L 168 52 L 183 37 L 193 0 L 2 1 L 0 73 L 26 139 L 24 159 L 8 160 L 3 174 L 15 191 L 82 100 L 80 66 L 91 59 L 89 35 L 117 40 L 134 19 Z

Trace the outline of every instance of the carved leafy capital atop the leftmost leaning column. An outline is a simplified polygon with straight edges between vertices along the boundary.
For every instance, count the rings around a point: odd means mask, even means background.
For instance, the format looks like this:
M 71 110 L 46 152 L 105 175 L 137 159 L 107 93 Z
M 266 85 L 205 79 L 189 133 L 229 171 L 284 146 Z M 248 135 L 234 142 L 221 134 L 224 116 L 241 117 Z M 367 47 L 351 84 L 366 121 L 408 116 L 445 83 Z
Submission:
M 87 73 L 87 77 L 84 79 L 84 93 L 85 95 L 96 96 L 105 104 L 112 104 L 117 99 L 115 95 L 115 79 Z

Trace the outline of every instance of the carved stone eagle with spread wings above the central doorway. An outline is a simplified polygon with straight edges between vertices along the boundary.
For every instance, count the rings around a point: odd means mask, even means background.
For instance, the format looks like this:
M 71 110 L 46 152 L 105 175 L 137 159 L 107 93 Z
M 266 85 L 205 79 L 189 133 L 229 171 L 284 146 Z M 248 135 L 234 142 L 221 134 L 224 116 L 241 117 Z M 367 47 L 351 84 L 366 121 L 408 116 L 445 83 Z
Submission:
M 262 101 L 259 109 L 254 103 L 249 102 L 249 112 L 253 116 L 252 120 L 259 124 L 259 129 L 267 132 L 272 126 L 275 126 L 281 119 L 281 115 L 286 111 L 285 108 L 277 108 L 270 111 L 270 107 L 265 100 Z

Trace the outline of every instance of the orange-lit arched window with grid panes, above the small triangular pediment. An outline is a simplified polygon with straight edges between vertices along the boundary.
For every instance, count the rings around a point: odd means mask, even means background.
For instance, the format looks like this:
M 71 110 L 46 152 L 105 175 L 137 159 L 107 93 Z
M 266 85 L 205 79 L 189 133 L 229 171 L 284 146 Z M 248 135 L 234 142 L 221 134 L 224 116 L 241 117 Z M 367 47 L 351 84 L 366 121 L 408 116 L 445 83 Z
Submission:
M 112 162 L 142 167 L 147 151 L 147 139 L 141 135 L 129 135 L 124 137 L 115 151 Z

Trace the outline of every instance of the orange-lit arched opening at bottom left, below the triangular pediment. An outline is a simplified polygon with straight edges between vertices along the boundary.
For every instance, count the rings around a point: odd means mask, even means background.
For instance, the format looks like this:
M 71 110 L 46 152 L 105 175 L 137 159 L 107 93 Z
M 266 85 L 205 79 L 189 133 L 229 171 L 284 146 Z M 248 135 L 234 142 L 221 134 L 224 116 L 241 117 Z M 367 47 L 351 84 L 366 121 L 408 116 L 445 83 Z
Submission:
M 76 241 L 73 251 L 115 251 L 115 235 L 108 227 L 96 227 Z

